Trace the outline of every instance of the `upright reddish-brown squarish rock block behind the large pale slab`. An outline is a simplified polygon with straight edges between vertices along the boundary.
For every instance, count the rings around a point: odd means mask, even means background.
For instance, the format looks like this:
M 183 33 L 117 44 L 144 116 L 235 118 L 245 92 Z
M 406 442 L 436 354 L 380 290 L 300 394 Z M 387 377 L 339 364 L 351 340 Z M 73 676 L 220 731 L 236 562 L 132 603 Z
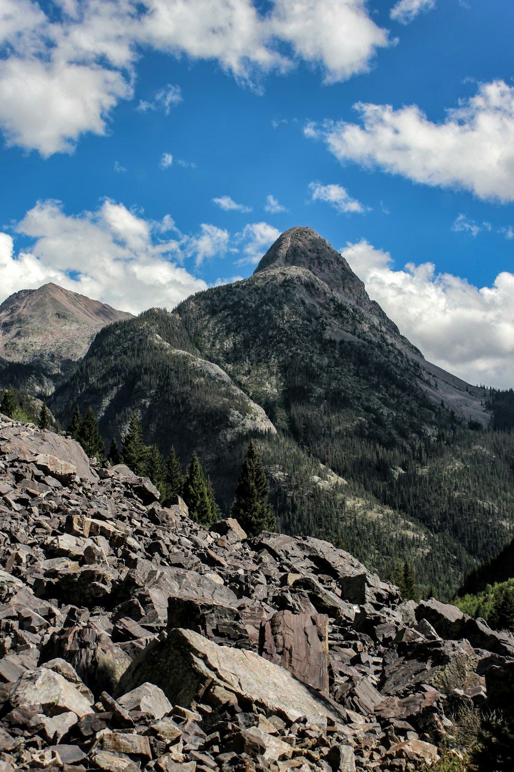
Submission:
M 260 628 L 259 653 L 328 695 L 328 616 L 277 611 Z

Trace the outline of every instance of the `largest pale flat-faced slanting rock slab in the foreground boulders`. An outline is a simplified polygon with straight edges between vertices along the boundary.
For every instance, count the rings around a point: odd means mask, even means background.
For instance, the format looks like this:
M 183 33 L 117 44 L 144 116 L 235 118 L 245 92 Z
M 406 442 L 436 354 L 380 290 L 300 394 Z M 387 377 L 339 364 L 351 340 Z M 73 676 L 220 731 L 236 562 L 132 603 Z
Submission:
M 127 691 L 146 681 L 160 686 L 173 705 L 186 708 L 219 686 L 270 712 L 281 711 L 292 721 L 307 716 L 321 729 L 328 717 L 338 722 L 346 717 L 344 709 L 280 665 L 245 649 L 217 645 L 191 630 L 175 629 L 165 642 L 152 642 L 129 666 L 120 689 Z

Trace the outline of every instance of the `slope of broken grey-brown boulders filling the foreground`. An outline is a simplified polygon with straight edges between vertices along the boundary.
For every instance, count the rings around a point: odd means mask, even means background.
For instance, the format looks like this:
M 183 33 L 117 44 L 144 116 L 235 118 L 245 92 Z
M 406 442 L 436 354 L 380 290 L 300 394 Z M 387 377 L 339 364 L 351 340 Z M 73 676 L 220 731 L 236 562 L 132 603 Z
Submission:
M 0 416 L 0 770 L 408 770 L 514 638 Z

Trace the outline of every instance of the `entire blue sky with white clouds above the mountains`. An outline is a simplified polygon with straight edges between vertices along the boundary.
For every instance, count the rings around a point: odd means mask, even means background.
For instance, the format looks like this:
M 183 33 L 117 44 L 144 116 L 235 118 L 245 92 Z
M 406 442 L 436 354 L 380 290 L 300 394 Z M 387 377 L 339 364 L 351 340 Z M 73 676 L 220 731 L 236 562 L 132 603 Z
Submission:
M 514 385 L 512 29 L 508 0 L 0 0 L 0 301 L 171 309 L 311 225 L 428 359 Z

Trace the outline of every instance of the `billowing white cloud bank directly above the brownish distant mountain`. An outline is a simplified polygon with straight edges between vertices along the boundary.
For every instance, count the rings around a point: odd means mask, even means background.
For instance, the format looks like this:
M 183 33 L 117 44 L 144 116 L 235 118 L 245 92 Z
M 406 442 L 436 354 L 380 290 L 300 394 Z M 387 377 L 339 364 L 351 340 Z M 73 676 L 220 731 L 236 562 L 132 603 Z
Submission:
M 173 230 L 177 239 L 162 239 Z M 16 254 L 12 236 L 0 233 L 0 300 L 18 289 L 55 282 L 115 308 L 139 313 L 151 306 L 172 309 L 207 284 L 178 263 L 193 239 L 166 215 L 150 222 L 123 204 L 104 201 L 96 212 L 70 216 L 59 201 L 40 201 L 16 231 L 33 239 Z M 71 279 L 69 274 L 77 276 Z

